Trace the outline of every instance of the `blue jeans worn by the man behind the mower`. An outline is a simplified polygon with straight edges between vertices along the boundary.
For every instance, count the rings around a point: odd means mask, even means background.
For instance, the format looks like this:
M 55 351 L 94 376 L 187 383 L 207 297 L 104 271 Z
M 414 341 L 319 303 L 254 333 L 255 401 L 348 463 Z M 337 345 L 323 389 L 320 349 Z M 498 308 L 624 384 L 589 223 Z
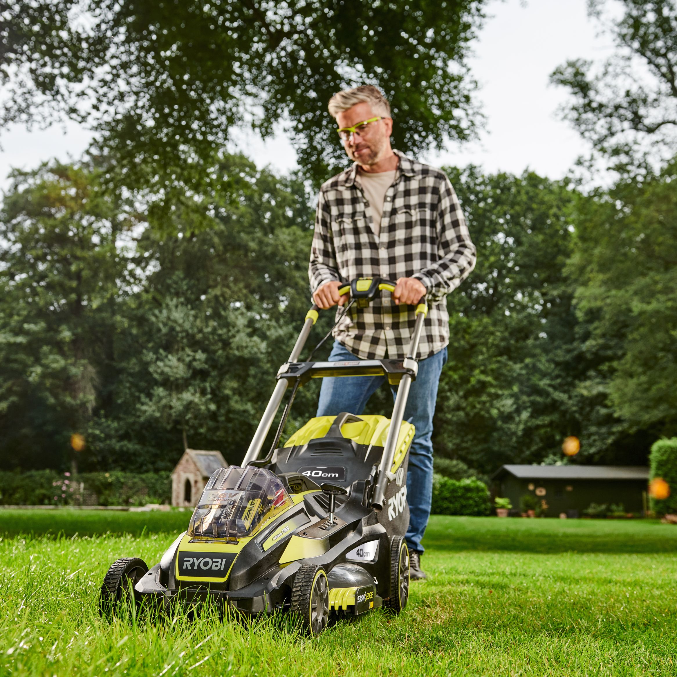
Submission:
M 342 343 L 334 341 L 330 362 L 341 362 L 355 357 Z M 418 376 L 412 383 L 404 418 L 416 427 L 409 452 L 407 473 L 407 501 L 409 503 L 409 528 L 406 541 L 410 550 L 423 552 L 421 545 L 425 527 L 430 517 L 433 500 L 433 414 L 437 400 L 437 385 L 442 367 L 447 361 L 447 349 L 422 359 L 418 363 Z M 336 416 L 341 412 L 362 414 L 368 399 L 385 383 L 385 376 L 344 376 L 323 378 L 318 403 L 318 416 Z M 397 393 L 391 387 L 393 399 Z

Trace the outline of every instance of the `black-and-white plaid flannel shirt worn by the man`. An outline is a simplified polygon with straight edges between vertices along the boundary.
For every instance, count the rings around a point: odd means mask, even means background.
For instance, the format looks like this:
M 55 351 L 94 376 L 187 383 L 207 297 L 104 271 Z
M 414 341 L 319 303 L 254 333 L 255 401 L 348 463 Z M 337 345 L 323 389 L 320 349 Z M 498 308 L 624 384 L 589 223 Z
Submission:
M 330 280 L 420 280 L 429 305 L 418 345 L 418 359 L 425 359 L 449 343 L 446 295 L 473 270 L 476 250 L 445 173 L 395 153 L 399 163 L 378 238 L 357 163 L 322 185 L 308 274 L 312 292 Z M 353 305 L 334 338 L 358 357 L 401 359 L 414 322 L 413 306 L 395 305 L 383 293 L 368 308 Z

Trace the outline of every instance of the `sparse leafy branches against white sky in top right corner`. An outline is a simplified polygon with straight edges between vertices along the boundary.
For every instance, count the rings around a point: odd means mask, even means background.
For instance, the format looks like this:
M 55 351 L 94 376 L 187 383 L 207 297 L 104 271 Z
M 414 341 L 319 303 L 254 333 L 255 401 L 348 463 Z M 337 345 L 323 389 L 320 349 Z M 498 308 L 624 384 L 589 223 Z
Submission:
M 563 114 L 615 169 L 646 171 L 677 150 L 677 5 L 592 0 L 589 7 L 616 49 L 601 68 L 577 59 L 554 71 L 552 82 L 571 93 Z

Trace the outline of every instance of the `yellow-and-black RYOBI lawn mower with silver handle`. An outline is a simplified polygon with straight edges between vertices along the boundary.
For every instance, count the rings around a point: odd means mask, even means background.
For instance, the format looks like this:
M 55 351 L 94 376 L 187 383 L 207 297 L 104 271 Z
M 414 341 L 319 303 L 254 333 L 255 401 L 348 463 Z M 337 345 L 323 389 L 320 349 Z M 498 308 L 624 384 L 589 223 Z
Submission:
M 343 284 L 343 283 L 342 283 Z M 395 283 L 359 278 L 339 288 L 366 307 Z M 414 426 L 403 414 L 418 363 L 416 351 L 427 305 L 416 322 L 405 359 L 305 362 L 299 356 L 318 307 L 308 311 L 288 361 L 242 460 L 219 468 L 204 487 L 181 533 L 151 569 L 136 557 L 115 561 L 101 588 L 102 615 L 133 596 L 141 605 L 169 609 L 206 603 L 246 615 L 292 611 L 307 634 L 318 636 L 333 617 L 355 617 L 381 607 L 399 613 L 409 594 L 407 466 Z M 399 312 L 404 311 L 403 309 Z M 334 324 L 334 327 L 336 326 Z M 384 375 L 397 385 L 391 418 L 311 418 L 278 447 L 299 387 L 311 378 Z M 271 424 L 291 389 L 269 453 L 259 458 Z

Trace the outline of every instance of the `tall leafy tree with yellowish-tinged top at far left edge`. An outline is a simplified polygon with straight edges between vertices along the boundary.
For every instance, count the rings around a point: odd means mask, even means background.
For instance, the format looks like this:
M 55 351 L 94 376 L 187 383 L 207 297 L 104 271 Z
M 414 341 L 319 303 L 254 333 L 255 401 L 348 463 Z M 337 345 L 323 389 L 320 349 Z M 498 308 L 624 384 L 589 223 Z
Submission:
M 114 378 L 118 246 L 135 219 L 95 167 L 12 177 L 0 213 L 0 447 L 26 466 L 58 466 Z

